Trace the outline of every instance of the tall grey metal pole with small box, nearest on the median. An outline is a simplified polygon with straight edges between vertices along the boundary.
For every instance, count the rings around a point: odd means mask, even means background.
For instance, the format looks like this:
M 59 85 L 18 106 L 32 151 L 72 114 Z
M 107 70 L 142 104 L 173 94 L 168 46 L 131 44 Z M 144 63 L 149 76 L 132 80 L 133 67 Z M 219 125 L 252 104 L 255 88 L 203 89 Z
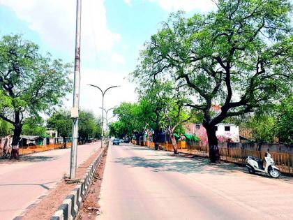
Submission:
M 77 167 L 77 139 L 78 139 L 78 110 L 80 105 L 80 32 L 82 20 L 82 0 L 77 0 L 76 6 L 76 32 L 75 32 L 75 66 L 73 108 L 70 115 L 73 119 L 73 140 L 70 152 L 70 179 L 75 179 Z

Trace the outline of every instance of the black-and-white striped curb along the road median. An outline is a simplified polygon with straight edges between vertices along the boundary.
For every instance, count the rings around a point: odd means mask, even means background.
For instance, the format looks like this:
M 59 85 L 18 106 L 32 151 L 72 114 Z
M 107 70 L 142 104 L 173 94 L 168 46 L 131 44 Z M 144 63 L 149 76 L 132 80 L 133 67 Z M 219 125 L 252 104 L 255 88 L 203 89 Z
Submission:
M 98 154 L 93 163 L 87 168 L 87 173 L 85 173 L 84 177 L 80 180 L 80 184 L 78 184 L 73 191 L 63 200 L 63 203 L 59 206 L 58 210 L 52 215 L 50 220 L 68 220 L 75 219 L 78 210 L 82 205 L 82 200 L 84 196 L 87 194 L 87 190 L 91 184 L 91 180 L 93 179 L 93 174 L 102 159 L 102 156 L 105 153 L 105 148 L 103 148 Z

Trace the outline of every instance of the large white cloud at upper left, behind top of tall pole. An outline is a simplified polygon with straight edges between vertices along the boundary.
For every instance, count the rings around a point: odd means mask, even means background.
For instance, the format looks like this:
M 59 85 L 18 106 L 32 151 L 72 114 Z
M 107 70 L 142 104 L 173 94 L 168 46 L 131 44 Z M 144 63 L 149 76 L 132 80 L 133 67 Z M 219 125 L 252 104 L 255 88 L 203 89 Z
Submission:
M 0 0 L 29 24 L 43 42 L 59 51 L 74 52 L 76 1 Z M 107 27 L 104 0 L 82 1 L 82 57 L 113 56 L 120 34 Z

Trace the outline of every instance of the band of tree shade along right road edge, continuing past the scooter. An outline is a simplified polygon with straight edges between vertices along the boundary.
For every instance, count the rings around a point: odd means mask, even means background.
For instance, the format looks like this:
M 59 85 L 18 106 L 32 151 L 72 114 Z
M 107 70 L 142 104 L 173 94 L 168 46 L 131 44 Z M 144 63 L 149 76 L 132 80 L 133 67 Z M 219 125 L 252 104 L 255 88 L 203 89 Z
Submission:
M 209 162 L 208 158 L 202 158 L 200 156 L 182 156 L 158 151 L 154 152 L 153 149 L 148 149 L 146 147 L 140 146 L 131 146 L 129 148 L 125 148 L 127 150 L 137 150 L 137 151 L 148 151 L 151 154 L 146 154 L 146 156 L 150 156 L 151 159 L 146 159 L 140 156 L 130 156 L 130 157 L 121 157 L 117 158 L 115 163 L 121 163 L 125 166 L 130 167 L 140 167 L 140 168 L 151 168 L 153 172 L 178 172 L 178 173 L 211 173 L 215 175 L 231 175 L 232 173 L 236 173 L 241 171 L 243 173 L 248 173 L 246 168 L 236 166 L 233 163 L 220 163 L 213 164 Z M 271 177 L 266 176 L 262 173 L 256 173 L 255 175 L 251 175 L 253 177 L 267 177 L 272 179 Z M 276 180 L 276 179 L 272 179 Z M 279 180 L 283 182 L 287 182 L 289 184 L 293 184 L 292 177 L 281 175 Z

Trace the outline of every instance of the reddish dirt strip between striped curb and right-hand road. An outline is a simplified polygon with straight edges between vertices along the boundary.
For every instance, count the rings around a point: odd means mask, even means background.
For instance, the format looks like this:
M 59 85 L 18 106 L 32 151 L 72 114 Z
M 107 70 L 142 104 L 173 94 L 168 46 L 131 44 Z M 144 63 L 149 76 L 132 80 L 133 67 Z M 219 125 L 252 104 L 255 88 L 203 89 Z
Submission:
M 100 186 L 103 181 L 103 173 L 105 170 L 105 164 L 107 160 L 107 151 L 103 155 L 102 160 L 100 161 L 100 165 L 98 166 L 96 173 L 93 178 L 93 182 L 89 188 L 87 195 L 84 198 L 84 202 L 82 203 L 82 207 L 80 211 L 77 213 L 78 220 L 93 220 L 96 219 L 97 215 L 100 214 L 100 205 L 98 204 L 98 200 L 100 199 Z

